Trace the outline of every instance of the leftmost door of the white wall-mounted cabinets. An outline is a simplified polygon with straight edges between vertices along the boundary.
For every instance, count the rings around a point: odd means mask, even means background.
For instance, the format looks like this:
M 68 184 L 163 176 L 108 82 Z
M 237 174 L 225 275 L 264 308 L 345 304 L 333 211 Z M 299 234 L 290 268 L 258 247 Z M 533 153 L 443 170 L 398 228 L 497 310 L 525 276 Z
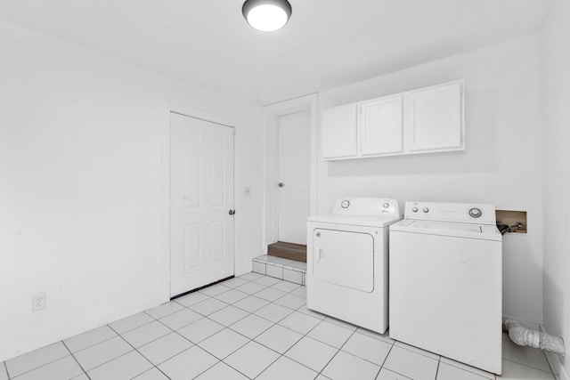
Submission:
M 356 156 L 356 105 L 322 111 L 322 158 Z

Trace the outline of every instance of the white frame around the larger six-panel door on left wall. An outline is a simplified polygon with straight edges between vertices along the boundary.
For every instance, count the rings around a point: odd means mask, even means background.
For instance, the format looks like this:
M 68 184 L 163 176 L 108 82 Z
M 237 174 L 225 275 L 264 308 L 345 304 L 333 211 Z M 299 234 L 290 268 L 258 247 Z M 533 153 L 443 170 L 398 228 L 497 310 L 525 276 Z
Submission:
M 202 109 L 194 109 L 175 101 L 162 101 L 160 127 L 160 303 L 170 301 L 170 113 L 199 118 L 211 123 L 225 125 L 233 129 L 233 206 L 240 209 L 239 197 L 236 197 L 239 187 L 238 149 L 240 147 L 238 133 L 240 123 L 230 117 L 224 117 Z M 233 218 L 233 271 L 236 268 L 237 233 L 240 213 Z

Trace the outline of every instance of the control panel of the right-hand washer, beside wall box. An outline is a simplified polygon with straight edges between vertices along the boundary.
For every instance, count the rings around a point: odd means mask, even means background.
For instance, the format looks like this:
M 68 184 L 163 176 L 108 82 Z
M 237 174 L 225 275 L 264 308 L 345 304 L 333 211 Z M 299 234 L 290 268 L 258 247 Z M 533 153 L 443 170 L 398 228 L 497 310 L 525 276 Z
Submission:
M 489 204 L 406 202 L 405 219 L 492 224 L 495 206 Z

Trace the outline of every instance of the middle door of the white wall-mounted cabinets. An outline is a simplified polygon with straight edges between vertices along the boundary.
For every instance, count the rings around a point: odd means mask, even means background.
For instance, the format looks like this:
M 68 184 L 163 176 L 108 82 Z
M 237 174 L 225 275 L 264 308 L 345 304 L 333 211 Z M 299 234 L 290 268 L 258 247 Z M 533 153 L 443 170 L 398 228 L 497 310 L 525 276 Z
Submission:
M 402 96 L 362 103 L 362 156 L 393 154 L 403 151 L 402 113 Z

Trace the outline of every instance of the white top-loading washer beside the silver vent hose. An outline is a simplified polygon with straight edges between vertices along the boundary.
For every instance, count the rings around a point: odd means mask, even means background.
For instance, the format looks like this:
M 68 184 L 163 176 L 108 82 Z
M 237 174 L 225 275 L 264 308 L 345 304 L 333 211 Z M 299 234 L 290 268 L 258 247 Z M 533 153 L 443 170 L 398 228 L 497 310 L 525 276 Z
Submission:
M 501 374 L 501 297 L 495 207 L 406 202 L 390 227 L 390 337 Z

